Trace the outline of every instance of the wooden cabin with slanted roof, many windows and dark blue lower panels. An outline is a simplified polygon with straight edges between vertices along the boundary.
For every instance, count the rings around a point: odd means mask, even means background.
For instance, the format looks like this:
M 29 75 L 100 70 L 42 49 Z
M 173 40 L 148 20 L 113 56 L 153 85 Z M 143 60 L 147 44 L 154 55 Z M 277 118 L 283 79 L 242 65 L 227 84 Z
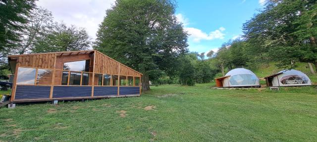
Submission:
M 142 73 L 96 50 L 11 55 L 8 62 L 13 103 L 141 95 Z

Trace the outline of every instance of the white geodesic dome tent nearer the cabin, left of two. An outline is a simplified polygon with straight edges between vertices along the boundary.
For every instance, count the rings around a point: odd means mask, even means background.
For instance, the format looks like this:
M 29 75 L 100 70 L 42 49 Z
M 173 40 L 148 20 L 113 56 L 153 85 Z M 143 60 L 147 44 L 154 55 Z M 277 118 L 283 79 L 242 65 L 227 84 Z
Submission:
M 222 80 L 223 87 L 260 86 L 260 79 L 252 71 L 237 68 L 229 71 Z

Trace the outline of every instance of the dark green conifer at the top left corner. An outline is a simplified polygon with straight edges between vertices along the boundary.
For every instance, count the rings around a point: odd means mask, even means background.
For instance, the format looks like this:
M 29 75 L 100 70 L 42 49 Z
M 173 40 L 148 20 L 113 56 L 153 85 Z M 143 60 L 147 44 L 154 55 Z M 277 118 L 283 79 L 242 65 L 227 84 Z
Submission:
M 35 0 L 0 0 L 0 58 L 16 47 Z

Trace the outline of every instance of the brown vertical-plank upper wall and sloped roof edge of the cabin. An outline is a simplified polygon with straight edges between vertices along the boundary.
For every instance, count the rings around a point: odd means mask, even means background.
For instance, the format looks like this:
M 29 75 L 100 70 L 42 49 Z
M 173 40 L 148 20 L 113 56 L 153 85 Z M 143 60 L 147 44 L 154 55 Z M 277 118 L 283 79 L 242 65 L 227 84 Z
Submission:
M 9 55 L 8 62 L 11 72 L 12 74 L 14 74 L 16 65 L 18 65 L 19 67 L 54 69 L 54 63 L 56 62 L 56 58 L 67 56 L 74 57 L 74 55 L 82 55 L 89 57 L 91 57 L 92 55 L 96 56 L 94 57 L 94 59 L 96 59 L 96 61 L 94 61 L 94 72 L 96 73 L 122 74 L 132 76 L 143 75 L 142 73 L 131 69 L 130 67 L 106 56 L 105 54 L 97 50 Z

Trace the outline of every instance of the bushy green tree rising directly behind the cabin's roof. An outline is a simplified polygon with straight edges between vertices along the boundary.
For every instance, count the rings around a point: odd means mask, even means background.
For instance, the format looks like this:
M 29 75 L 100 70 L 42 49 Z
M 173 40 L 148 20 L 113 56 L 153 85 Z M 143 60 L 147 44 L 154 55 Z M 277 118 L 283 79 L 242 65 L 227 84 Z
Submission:
M 87 50 L 91 41 L 83 28 L 55 23 L 49 33 L 38 37 L 33 53 Z

